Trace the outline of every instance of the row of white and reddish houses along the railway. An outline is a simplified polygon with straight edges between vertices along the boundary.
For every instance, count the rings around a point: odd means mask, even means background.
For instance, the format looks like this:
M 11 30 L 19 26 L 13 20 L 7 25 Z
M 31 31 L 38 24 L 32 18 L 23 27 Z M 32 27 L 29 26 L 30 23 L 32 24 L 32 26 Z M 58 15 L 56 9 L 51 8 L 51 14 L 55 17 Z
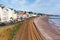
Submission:
M 22 21 L 26 18 L 36 16 L 26 11 L 16 11 L 12 8 L 7 8 L 0 4 L 0 23 L 11 22 L 11 21 Z

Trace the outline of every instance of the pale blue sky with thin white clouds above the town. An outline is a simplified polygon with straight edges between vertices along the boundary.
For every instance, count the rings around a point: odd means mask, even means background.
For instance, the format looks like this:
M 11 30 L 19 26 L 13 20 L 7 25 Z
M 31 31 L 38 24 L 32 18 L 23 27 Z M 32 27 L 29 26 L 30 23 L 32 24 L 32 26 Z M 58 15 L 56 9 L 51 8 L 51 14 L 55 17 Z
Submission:
M 16 10 L 60 15 L 60 0 L 0 0 L 0 4 Z

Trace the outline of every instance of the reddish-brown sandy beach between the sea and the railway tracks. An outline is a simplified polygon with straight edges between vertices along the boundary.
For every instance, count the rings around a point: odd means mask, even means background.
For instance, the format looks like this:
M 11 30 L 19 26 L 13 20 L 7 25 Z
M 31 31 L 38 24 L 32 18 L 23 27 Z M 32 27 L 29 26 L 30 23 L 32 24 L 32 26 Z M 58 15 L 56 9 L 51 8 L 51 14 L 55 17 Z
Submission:
M 46 40 L 60 40 L 60 29 L 48 22 L 48 17 L 38 17 L 34 20 L 37 29 Z

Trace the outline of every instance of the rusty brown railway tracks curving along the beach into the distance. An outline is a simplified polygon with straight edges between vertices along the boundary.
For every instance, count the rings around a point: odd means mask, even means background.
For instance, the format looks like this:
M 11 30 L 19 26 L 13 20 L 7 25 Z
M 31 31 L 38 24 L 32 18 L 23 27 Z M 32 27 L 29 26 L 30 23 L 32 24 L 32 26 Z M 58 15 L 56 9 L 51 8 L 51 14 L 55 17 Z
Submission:
M 13 40 L 43 40 L 31 18 L 22 25 Z

